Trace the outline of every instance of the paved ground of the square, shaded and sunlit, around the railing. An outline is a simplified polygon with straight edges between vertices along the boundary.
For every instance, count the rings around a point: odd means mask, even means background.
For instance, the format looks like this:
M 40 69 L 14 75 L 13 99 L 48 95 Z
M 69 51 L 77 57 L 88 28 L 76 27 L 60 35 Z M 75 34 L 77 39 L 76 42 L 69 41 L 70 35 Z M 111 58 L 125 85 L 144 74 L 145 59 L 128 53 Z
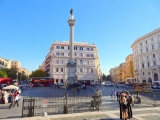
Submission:
M 119 105 L 116 98 L 110 97 L 110 90 L 122 90 L 124 88 L 97 86 L 95 89 L 87 88 L 81 90 L 77 96 L 92 95 L 96 89 L 102 91 L 102 106 L 100 112 L 82 113 L 82 114 L 67 114 L 48 116 L 48 120 L 118 120 L 119 119 Z M 36 97 L 55 97 L 63 96 L 64 93 L 68 93 L 69 96 L 73 96 L 71 90 L 55 89 L 53 87 L 36 87 L 29 88 L 22 91 L 22 96 L 36 96 Z M 19 101 L 20 107 L 15 106 L 9 109 L 9 104 L 0 104 L 0 119 L 21 119 L 22 114 L 22 99 Z M 153 107 L 148 104 L 135 104 L 133 107 L 132 120 L 160 120 L 160 108 Z M 23 118 L 23 119 L 35 119 L 41 120 L 44 117 Z

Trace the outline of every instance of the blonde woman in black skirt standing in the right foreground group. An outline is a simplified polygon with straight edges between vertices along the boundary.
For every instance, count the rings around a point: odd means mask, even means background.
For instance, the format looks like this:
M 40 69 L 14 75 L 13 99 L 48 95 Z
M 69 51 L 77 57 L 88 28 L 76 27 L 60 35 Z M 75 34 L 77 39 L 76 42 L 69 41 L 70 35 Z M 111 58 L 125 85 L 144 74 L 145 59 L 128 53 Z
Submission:
M 127 100 L 124 93 L 121 94 L 121 109 L 123 120 L 127 120 Z

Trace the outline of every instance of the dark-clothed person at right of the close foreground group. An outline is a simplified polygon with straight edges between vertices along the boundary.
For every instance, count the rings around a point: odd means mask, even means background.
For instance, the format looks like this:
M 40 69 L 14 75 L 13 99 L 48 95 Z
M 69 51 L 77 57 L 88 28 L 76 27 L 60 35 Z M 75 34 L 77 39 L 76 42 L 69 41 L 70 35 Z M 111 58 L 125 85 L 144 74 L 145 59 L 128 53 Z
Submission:
M 128 119 L 132 118 L 132 107 L 131 104 L 133 103 L 133 96 L 130 93 L 126 92 L 126 99 L 127 99 L 127 112 L 128 112 Z

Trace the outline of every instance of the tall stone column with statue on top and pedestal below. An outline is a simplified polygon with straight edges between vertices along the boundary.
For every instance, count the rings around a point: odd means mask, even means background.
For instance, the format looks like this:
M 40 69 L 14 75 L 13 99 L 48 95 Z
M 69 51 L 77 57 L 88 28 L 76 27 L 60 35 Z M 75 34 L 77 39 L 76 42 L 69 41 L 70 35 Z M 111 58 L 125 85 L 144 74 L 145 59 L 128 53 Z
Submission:
M 67 83 L 71 84 L 76 82 L 76 61 L 74 60 L 74 24 L 76 20 L 74 19 L 73 9 L 70 10 L 70 18 L 68 20 L 70 27 L 70 46 L 69 46 L 69 61 L 68 67 L 68 80 Z

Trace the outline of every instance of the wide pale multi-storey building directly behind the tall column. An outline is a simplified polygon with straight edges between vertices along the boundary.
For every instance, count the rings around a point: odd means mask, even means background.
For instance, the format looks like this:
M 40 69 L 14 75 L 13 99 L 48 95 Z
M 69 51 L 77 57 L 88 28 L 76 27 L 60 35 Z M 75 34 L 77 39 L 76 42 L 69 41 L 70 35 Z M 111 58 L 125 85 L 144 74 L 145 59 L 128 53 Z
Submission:
M 98 49 L 95 44 L 74 42 L 77 80 L 97 81 L 101 79 Z M 66 82 L 68 78 L 69 42 L 54 41 L 45 57 L 45 71 L 56 82 Z

